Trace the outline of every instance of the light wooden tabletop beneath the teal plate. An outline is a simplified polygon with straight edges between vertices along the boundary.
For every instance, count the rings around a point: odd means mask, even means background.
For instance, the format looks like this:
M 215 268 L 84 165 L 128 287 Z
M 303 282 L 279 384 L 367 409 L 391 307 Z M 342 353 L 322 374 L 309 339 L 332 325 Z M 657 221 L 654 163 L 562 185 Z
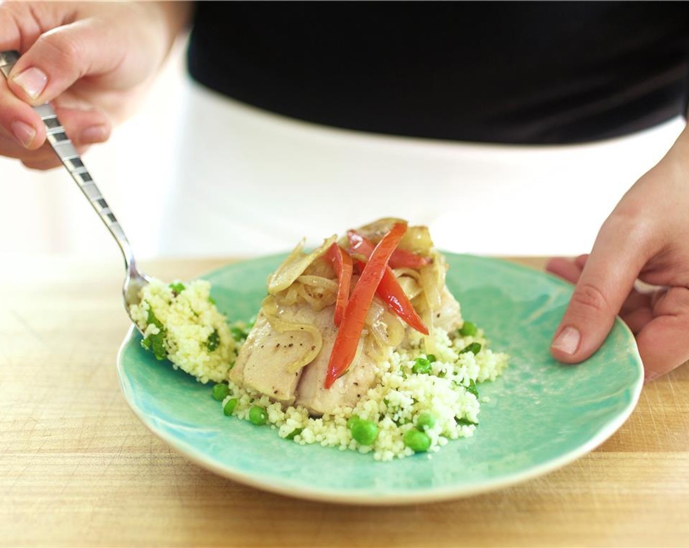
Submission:
M 223 262 L 143 266 L 192 278 Z M 689 545 L 686 365 L 644 387 L 593 453 L 522 485 L 407 507 L 308 502 L 192 465 L 132 414 L 114 365 L 119 258 L 3 263 L 0 545 Z

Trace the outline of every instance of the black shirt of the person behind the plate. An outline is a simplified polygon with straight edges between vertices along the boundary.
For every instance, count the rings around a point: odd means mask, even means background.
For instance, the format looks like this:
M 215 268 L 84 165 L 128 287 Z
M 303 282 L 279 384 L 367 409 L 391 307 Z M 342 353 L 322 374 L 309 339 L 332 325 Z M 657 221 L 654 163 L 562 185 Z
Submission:
M 576 143 L 685 114 L 674 2 L 199 2 L 189 72 L 229 97 L 366 132 Z

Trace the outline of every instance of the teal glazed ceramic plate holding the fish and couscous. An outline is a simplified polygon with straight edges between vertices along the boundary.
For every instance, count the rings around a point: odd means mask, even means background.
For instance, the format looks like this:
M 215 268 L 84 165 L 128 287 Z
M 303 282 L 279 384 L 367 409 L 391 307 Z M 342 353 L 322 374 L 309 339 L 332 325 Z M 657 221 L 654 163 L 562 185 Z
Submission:
M 275 429 L 223 415 L 210 385 L 141 348 L 133 328 L 118 356 L 121 387 L 143 423 L 209 470 L 278 493 L 358 504 L 419 503 L 469 496 L 570 463 L 611 436 L 633 411 L 644 372 L 633 335 L 616 321 L 586 363 L 560 365 L 548 347 L 572 287 L 492 258 L 446 254 L 447 283 L 464 318 L 484 327 L 506 372 L 479 385 L 480 426 L 438 453 L 380 463 L 371 454 L 298 445 Z M 253 316 L 267 276 L 284 256 L 227 265 L 203 276 L 230 320 Z

